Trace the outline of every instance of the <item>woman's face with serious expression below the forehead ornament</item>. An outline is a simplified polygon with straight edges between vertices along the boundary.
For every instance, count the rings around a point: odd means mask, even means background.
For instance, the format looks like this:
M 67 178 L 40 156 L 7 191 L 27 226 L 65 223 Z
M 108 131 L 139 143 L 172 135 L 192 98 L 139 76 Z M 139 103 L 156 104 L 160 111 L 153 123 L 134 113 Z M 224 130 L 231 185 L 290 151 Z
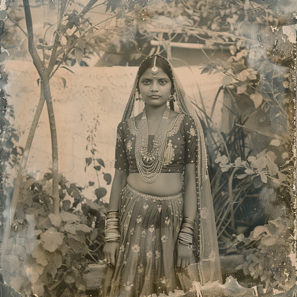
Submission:
M 166 104 L 172 88 L 167 74 L 158 67 L 158 73 L 154 77 L 148 68 L 139 80 L 139 91 L 146 105 L 159 107 Z

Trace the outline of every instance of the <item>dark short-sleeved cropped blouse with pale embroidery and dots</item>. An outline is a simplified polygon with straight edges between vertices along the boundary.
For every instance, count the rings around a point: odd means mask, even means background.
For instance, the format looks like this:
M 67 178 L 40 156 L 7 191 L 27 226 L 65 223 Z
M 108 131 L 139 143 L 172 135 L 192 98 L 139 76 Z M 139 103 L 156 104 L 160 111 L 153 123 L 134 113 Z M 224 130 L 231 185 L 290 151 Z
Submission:
M 117 127 L 114 167 L 129 173 L 138 173 L 135 158 L 137 128 L 134 117 L 121 121 Z M 154 135 L 148 135 L 148 151 L 151 151 Z M 182 173 L 185 164 L 197 161 L 197 131 L 193 118 L 180 113 L 167 132 L 165 162 L 161 173 Z

